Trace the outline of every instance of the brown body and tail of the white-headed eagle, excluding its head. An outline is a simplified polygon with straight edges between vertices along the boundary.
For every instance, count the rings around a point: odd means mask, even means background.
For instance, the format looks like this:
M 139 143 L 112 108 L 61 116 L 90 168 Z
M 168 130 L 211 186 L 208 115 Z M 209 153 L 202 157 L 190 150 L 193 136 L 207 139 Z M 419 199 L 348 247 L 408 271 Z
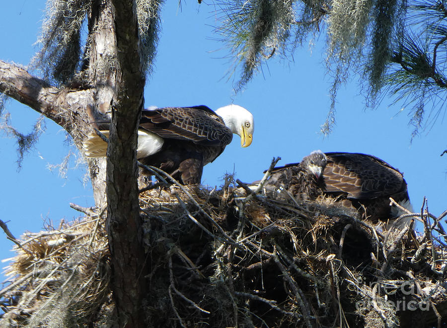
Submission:
M 95 123 L 108 132 L 110 120 Z M 148 132 L 146 137 L 139 136 L 142 147 L 150 149 L 151 143 L 159 147 L 154 152 L 148 150 L 150 155 L 140 158 L 141 162 L 162 169 L 183 184 L 200 183 L 203 166 L 216 159 L 233 137 L 224 120 L 206 106 L 143 109 L 139 129 Z M 105 156 L 107 143 L 92 134 L 84 148 L 90 156 Z

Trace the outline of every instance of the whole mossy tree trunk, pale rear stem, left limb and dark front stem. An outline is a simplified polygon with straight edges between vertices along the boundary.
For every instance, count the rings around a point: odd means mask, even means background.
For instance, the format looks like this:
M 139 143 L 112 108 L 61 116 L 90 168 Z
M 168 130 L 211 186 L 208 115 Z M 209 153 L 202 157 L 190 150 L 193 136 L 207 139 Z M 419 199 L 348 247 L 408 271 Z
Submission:
M 145 76 L 135 0 L 94 1 L 81 74 L 56 88 L 0 61 L 0 92 L 64 127 L 81 149 L 94 122 L 112 116 L 105 159 L 89 159 L 97 207 L 107 206 L 112 290 L 121 327 L 145 327 L 145 252 L 141 244 L 136 144 Z M 85 87 L 88 86 L 88 87 Z M 107 172 L 107 176 L 106 176 Z M 106 201 L 107 195 L 107 201 Z

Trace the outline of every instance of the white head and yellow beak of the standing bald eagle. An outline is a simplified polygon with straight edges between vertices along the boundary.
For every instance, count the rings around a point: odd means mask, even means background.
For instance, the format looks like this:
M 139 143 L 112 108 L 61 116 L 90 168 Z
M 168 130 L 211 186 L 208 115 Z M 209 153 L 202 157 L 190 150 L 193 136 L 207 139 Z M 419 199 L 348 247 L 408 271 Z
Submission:
M 231 132 L 240 136 L 240 145 L 248 147 L 253 141 L 253 115 L 247 109 L 238 105 L 228 105 L 216 110 Z

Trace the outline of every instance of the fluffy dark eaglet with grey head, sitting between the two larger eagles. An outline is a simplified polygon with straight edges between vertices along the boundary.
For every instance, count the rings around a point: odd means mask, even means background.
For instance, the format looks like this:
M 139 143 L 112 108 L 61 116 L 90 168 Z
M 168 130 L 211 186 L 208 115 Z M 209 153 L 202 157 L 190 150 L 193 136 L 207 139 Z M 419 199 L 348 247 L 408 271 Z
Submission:
M 326 156 L 321 150 L 312 151 L 301 162 L 277 167 L 264 184 L 267 194 L 288 198 L 287 190 L 298 200 L 315 200 L 324 190 L 322 177 Z

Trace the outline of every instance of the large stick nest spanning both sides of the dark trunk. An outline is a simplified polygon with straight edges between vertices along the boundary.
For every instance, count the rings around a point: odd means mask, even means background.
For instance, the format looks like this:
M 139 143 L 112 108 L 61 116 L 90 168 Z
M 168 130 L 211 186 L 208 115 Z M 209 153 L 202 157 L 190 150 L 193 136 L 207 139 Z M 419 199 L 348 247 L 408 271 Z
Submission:
M 423 206 L 410 226 L 385 230 L 331 199 L 270 199 L 244 187 L 228 176 L 220 190 L 141 194 L 148 327 L 444 323 L 447 211 L 436 218 Z M 105 216 L 80 210 L 82 219 L 16 240 L 0 327 L 117 327 Z

